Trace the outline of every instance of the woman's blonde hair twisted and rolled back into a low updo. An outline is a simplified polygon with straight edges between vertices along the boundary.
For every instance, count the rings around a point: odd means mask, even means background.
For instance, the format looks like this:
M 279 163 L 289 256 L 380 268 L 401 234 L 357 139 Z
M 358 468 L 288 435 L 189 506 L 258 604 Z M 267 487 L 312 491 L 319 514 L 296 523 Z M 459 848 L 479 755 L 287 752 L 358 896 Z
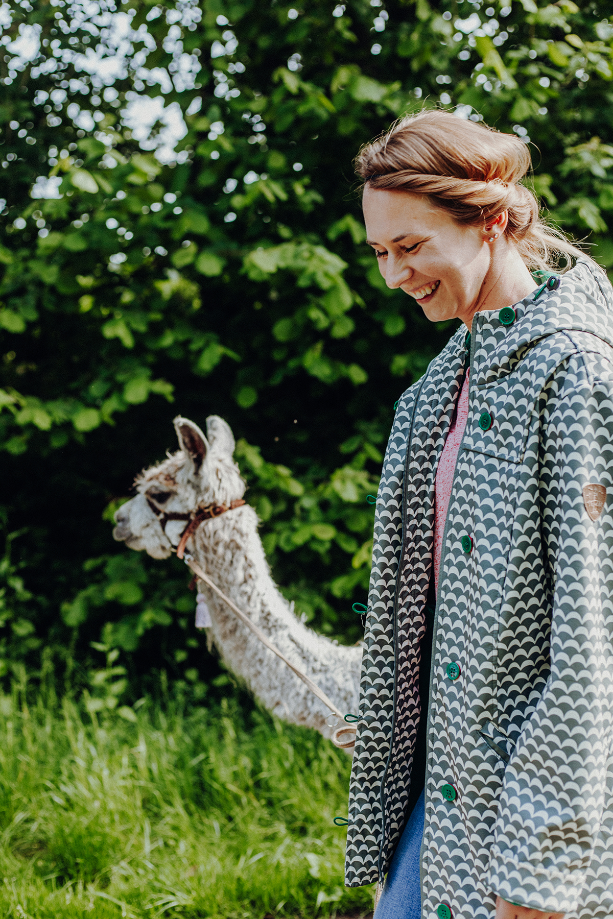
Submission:
M 426 109 L 365 144 L 355 163 L 365 186 L 426 195 L 458 223 L 479 225 L 508 211 L 505 235 L 529 268 L 567 270 L 573 257 L 589 258 L 539 220 L 539 202 L 521 184 L 531 167 L 528 145 L 515 134 Z

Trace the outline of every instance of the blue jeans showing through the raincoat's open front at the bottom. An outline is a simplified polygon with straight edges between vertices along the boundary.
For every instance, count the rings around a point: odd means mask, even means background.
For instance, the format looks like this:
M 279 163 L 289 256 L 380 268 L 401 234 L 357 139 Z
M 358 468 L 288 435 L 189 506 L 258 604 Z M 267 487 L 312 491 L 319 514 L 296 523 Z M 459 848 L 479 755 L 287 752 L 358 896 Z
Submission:
M 419 852 L 424 838 L 424 815 L 422 791 L 392 858 L 374 919 L 421 919 Z

